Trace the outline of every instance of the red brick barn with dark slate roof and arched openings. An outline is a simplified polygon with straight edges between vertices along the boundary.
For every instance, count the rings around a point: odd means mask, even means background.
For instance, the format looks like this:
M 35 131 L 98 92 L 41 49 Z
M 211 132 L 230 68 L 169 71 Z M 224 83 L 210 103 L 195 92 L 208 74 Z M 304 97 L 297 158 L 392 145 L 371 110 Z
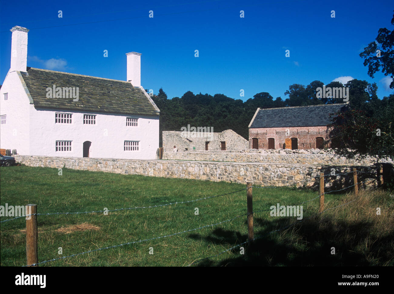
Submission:
M 323 149 L 329 114 L 347 109 L 347 103 L 258 108 L 249 124 L 249 149 Z

